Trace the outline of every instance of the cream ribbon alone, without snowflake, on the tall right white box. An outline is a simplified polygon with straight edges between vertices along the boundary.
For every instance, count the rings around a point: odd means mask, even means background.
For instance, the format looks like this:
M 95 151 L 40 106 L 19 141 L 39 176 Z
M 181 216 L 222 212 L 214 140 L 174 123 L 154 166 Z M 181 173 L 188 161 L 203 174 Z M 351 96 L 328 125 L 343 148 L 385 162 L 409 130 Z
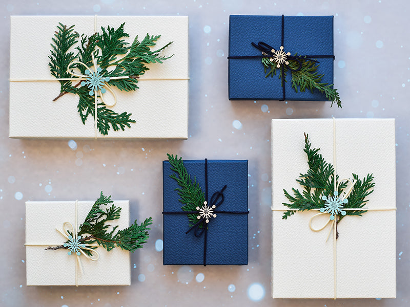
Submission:
M 334 190 L 335 191 L 338 191 L 339 190 L 339 186 L 340 186 L 340 183 L 342 183 L 342 182 L 344 182 L 344 181 L 347 181 L 347 182 L 349 182 L 351 185 L 350 185 L 350 187 L 348 188 L 348 190 L 345 192 L 345 191 L 342 191 L 342 193 L 340 194 L 340 196 L 339 196 L 339 198 L 340 198 L 340 200 L 341 201 L 343 201 L 344 199 L 346 199 L 347 197 L 348 197 L 348 195 L 352 192 L 352 190 L 353 190 L 353 187 L 354 187 L 354 185 L 355 185 L 355 183 L 356 183 L 356 181 L 355 180 L 353 180 L 353 181 L 351 181 L 350 179 L 342 179 L 342 180 L 340 180 L 339 181 L 339 183 L 338 184 L 336 184 L 336 119 L 333 117 L 333 167 L 334 167 L 334 174 L 333 174 L 333 176 L 334 176 Z M 298 211 L 298 210 L 295 210 L 295 209 L 277 209 L 277 208 L 273 208 L 273 207 L 271 207 L 271 210 L 272 211 Z M 386 211 L 386 210 L 397 210 L 397 208 L 343 208 L 343 211 Z M 320 209 L 311 209 L 311 210 L 309 210 L 309 211 L 320 211 Z M 336 227 L 337 227 L 337 215 L 335 216 L 335 218 L 334 218 L 334 220 L 332 221 L 332 220 L 328 220 L 327 222 L 326 222 L 326 224 L 324 224 L 322 227 L 320 227 L 320 228 L 313 228 L 313 226 L 312 226 L 312 220 L 315 218 L 315 217 L 317 217 L 317 216 L 319 216 L 319 215 L 323 215 L 323 214 L 329 214 L 329 213 L 327 213 L 327 212 L 320 212 L 320 213 L 317 213 L 317 214 L 315 214 L 315 215 L 313 215 L 311 218 L 310 218 L 310 220 L 309 220 L 309 228 L 312 230 L 312 231 L 321 231 L 321 230 L 323 230 L 327 225 L 329 225 L 329 223 L 332 223 L 332 228 L 330 229 L 330 231 L 329 231 L 329 234 L 327 235 L 327 238 L 326 238 L 326 242 L 327 242 L 327 240 L 329 239 L 329 237 L 330 237 L 330 233 L 332 232 L 332 230 L 333 230 L 333 293 L 334 293 L 334 296 L 333 296 L 333 299 L 336 299 L 337 298 L 337 275 L 336 275 L 336 268 L 337 268 L 337 262 L 336 262 Z

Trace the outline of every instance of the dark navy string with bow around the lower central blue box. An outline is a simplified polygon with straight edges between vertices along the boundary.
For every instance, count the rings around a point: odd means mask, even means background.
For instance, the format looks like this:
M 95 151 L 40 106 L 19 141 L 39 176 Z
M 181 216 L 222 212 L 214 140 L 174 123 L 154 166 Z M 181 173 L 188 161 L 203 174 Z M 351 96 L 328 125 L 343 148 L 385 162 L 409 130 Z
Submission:
M 208 159 L 205 159 L 205 201 L 207 205 L 212 208 L 215 206 L 217 208 L 223 203 L 224 196 L 223 191 L 227 188 L 227 185 L 224 185 L 220 191 L 216 191 L 212 194 L 211 200 L 208 202 Z M 221 200 L 219 200 L 221 198 Z M 249 211 L 213 211 L 214 213 L 229 213 L 229 214 L 249 214 Z M 162 214 L 198 214 L 198 211 L 164 211 Z M 193 226 L 191 226 L 186 234 L 188 234 L 192 229 L 194 230 L 194 235 L 200 237 L 204 233 L 204 242 L 203 242 L 203 266 L 207 266 L 207 238 L 208 238 L 208 224 L 205 223 L 206 218 L 202 217 L 200 220 Z M 202 228 L 200 226 L 202 225 Z

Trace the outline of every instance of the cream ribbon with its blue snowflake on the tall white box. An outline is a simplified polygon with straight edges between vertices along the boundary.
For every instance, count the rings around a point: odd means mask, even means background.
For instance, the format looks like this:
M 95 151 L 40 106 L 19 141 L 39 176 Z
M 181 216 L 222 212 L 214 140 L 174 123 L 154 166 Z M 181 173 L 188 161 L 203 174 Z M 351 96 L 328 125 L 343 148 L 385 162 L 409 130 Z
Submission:
M 355 180 L 351 181 L 350 179 L 342 179 L 339 181 L 339 183 L 336 183 L 336 119 L 333 117 L 333 166 L 334 166 L 334 198 L 332 199 L 332 196 L 329 197 L 329 199 L 331 199 L 332 201 L 337 201 L 337 199 L 339 200 L 338 204 L 339 207 L 337 208 L 337 212 L 334 212 L 330 209 L 326 210 L 324 208 L 320 208 L 320 209 L 311 209 L 308 211 L 320 211 L 320 213 L 317 213 L 315 215 L 313 215 L 310 220 L 309 220 L 309 228 L 312 231 L 321 231 L 324 228 L 326 228 L 327 225 L 329 225 L 330 223 L 332 223 L 332 227 L 329 231 L 329 234 L 327 235 L 326 238 L 326 242 L 330 237 L 330 234 L 333 230 L 333 299 L 337 298 L 337 254 L 336 254 L 336 234 L 337 234 L 337 214 L 342 214 L 342 215 L 346 215 L 345 211 L 387 211 L 387 210 L 397 210 L 397 208 L 366 208 L 366 207 L 362 207 L 362 208 L 344 208 L 342 204 L 346 204 L 347 203 L 347 197 L 348 195 L 352 192 L 353 187 L 356 183 Z M 347 189 L 347 191 L 342 191 L 340 196 L 338 196 L 338 190 L 339 190 L 339 186 L 342 182 L 347 181 L 348 183 L 350 183 L 350 187 Z M 327 198 L 327 196 L 322 196 L 322 200 L 329 200 Z M 298 211 L 295 209 L 276 209 L 271 207 L 272 211 Z M 325 212 L 326 211 L 326 212 Z M 344 213 L 343 213 L 344 212 Z M 335 214 L 336 213 L 336 214 Z M 329 221 L 327 221 L 322 227 L 320 228 L 314 228 L 312 226 L 312 221 L 315 217 L 323 215 L 323 214 L 331 214 Z M 333 216 L 333 218 L 332 218 Z

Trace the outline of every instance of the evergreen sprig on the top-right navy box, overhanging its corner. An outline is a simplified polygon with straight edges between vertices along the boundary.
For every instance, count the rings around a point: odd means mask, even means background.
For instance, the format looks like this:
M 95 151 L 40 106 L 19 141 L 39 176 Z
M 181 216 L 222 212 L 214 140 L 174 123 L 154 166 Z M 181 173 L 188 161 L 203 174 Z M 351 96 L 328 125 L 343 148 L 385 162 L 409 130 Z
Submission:
M 297 54 L 295 54 L 295 56 L 297 56 Z M 289 64 L 284 65 L 283 77 L 285 79 L 285 82 L 288 82 L 286 81 L 286 73 L 290 71 L 292 75 L 292 88 L 296 93 L 298 91 L 304 92 L 306 89 L 311 91 L 311 93 L 313 93 L 314 90 L 318 90 L 320 93 L 323 93 L 329 101 L 332 102 L 331 107 L 333 106 L 333 103 L 336 103 L 338 107 L 342 107 L 339 93 L 337 92 L 337 89 L 333 89 L 333 84 L 322 82 L 324 75 L 319 75 L 319 73 L 317 72 L 319 64 L 304 59 L 300 59 L 300 61 L 300 70 L 297 70 L 299 68 L 299 63 L 295 60 L 289 60 Z M 277 63 L 275 61 L 271 62 L 269 58 L 264 57 L 262 58 L 262 64 L 264 66 L 265 74 L 267 74 L 265 77 L 273 77 L 276 75 Z M 270 71 L 267 73 L 268 69 L 270 69 Z M 279 79 L 281 78 L 282 70 L 279 69 Z

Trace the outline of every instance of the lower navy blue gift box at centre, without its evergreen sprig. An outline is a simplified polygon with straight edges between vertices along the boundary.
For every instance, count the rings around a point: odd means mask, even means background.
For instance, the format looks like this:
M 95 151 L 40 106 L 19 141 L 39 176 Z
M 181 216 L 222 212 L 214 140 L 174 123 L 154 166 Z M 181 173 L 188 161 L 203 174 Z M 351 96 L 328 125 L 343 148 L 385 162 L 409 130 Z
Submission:
M 183 164 L 208 204 L 217 203 L 217 216 L 203 228 L 189 226 L 175 190 L 179 186 L 170 178 L 171 165 L 163 161 L 163 264 L 247 265 L 248 160 L 183 160 Z

